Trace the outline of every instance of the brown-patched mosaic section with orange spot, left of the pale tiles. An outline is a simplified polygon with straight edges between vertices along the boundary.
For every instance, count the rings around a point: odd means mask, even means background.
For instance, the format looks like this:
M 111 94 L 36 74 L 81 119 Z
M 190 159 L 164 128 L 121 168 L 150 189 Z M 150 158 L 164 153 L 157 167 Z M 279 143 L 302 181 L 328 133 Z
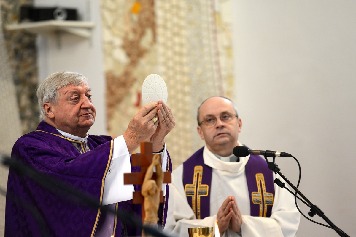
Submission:
M 106 111 L 109 134 L 125 132 L 142 108 L 143 80 L 157 72 L 152 0 L 102 1 Z

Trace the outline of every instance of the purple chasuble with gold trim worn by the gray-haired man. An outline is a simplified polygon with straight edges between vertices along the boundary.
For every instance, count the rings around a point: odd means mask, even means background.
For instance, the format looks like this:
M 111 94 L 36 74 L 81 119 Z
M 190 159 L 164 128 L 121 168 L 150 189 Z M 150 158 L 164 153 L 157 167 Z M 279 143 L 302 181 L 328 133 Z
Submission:
M 89 135 L 88 147 L 90 151 L 80 154 L 54 127 L 42 121 L 36 131 L 25 134 L 16 141 L 11 157 L 101 202 L 104 178 L 111 162 L 114 143 L 110 136 Z M 137 167 L 132 167 L 131 170 L 138 171 Z M 51 237 L 94 236 L 100 215 L 106 214 L 99 208 L 73 203 L 62 196 L 49 192 L 26 176 L 17 175 L 10 168 L 5 237 L 37 237 L 44 234 Z M 132 204 L 132 200 L 117 203 L 116 208 L 137 215 L 141 213 L 141 206 Z M 167 215 L 166 211 L 164 214 Z M 162 212 L 161 216 L 164 214 Z M 115 236 L 141 233 L 141 230 L 115 218 Z

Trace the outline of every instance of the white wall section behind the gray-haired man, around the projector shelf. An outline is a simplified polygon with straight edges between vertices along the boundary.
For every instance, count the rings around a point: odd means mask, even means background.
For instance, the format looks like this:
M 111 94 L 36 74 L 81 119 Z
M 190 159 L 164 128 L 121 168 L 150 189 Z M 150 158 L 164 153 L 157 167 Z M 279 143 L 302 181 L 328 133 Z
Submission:
M 58 71 L 74 71 L 88 77 L 96 108 L 95 124 L 90 134 L 106 134 L 105 78 L 101 48 L 100 1 L 97 0 L 35 0 L 34 5 L 60 6 L 78 10 L 79 19 L 92 21 L 92 37 L 61 33 L 40 34 L 37 38 L 38 73 L 40 81 Z

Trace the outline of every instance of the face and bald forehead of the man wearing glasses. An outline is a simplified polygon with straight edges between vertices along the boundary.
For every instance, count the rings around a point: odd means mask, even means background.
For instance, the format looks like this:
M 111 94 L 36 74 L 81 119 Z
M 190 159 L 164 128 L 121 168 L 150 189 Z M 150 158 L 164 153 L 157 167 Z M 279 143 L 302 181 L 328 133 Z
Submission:
M 236 116 L 229 122 L 223 122 L 220 119 L 226 114 L 234 115 L 236 113 L 231 101 L 221 97 L 212 97 L 200 106 L 199 111 L 199 122 L 205 121 L 209 117 L 217 118 L 212 127 L 208 127 L 205 122 L 198 126 L 198 133 L 201 139 L 205 140 L 206 146 L 215 154 L 231 155 L 232 149 L 237 145 L 242 126 L 241 118 Z

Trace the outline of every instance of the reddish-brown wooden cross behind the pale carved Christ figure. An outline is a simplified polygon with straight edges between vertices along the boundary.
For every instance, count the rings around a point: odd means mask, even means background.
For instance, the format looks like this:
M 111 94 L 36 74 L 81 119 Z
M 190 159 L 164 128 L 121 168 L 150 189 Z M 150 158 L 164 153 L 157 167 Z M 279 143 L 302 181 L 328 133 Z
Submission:
M 141 172 L 137 173 L 124 173 L 124 184 L 138 184 L 141 185 L 145 178 L 146 171 L 152 163 L 153 156 L 152 153 L 152 143 L 151 142 L 142 142 L 141 143 L 141 153 L 132 154 L 131 165 L 132 166 L 141 166 Z M 159 155 L 161 156 L 161 155 Z M 160 157 L 159 157 L 160 158 Z M 159 159 L 161 161 L 161 159 Z M 160 162 L 161 164 L 161 162 Z M 162 164 L 161 164 L 162 165 Z M 156 172 L 152 174 L 152 180 L 157 180 Z M 171 172 L 163 172 L 163 183 L 171 182 Z M 162 191 L 160 192 L 160 202 L 163 202 Z M 142 221 L 145 220 L 145 207 L 144 207 L 144 198 L 141 194 L 141 191 L 133 192 L 134 204 L 142 204 Z

